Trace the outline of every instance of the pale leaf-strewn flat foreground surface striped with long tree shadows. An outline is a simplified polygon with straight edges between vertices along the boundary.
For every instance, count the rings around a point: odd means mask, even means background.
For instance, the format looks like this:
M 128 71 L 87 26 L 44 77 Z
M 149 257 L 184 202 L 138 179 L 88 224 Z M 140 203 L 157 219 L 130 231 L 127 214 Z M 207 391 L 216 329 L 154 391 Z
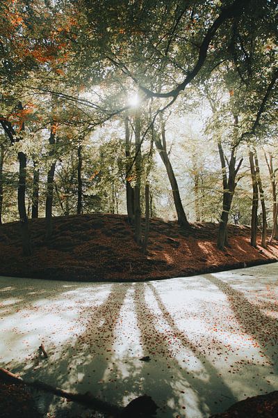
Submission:
M 159 418 L 208 417 L 278 389 L 277 282 L 278 263 L 142 284 L 1 277 L 0 364 L 119 405 L 149 394 Z

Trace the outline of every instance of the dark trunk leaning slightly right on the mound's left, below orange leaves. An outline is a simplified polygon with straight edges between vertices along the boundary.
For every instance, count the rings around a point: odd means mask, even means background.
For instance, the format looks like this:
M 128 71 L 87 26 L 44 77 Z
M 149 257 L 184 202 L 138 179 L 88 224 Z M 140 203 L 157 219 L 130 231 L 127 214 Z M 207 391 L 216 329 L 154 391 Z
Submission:
M 49 152 L 49 157 L 53 157 L 54 149 L 53 146 L 56 143 L 55 132 L 51 126 L 51 132 L 49 137 L 49 144 L 51 150 Z M 56 162 L 51 164 L 51 167 L 47 173 L 47 200 L 45 203 L 45 218 L 46 218 L 46 233 L 45 238 L 49 240 L 52 235 L 52 206 L 53 206 L 53 189 L 54 189 L 54 173 L 55 173 Z

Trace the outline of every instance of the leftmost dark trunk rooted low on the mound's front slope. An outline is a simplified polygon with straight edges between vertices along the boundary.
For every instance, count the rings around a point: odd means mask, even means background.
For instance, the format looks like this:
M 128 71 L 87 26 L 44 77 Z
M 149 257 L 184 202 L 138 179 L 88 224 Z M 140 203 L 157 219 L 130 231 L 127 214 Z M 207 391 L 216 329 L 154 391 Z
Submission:
M 22 233 L 22 249 L 24 256 L 31 256 L 31 240 L 28 229 L 28 217 L 25 206 L 26 192 L 26 155 L 22 152 L 17 154 L 19 160 L 19 185 L 17 189 L 17 206 L 19 212 L 20 227 Z

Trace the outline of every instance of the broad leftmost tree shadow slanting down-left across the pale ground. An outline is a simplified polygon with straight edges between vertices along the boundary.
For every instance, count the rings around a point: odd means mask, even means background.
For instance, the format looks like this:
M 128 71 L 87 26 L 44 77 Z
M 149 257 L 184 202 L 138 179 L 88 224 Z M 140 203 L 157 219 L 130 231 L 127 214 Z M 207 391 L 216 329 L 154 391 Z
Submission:
M 78 286 L 75 285 L 73 287 L 74 289 L 70 292 L 79 293 Z M 84 291 L 84 288 L 80 290 Z M 126 290 L 127 288 L 122 289 L 120 284 L 111 285 L 104 302 L 99 304 L 98 307 L 91 307 L 89 304 L 88 307 L 81 311 L 80 318 L 81 327 L 84 330 L 83 333 L 78 336 L 73 334 L 73 338 L 67 339 L 61 347 L 55 346 L 53 343 L 47 346 L 48 359 L 38 357 L 38 353 L 33 353 L 33 356 L 26 362 L 17 362 L 14 359 L 12 362 L 13 372 L 19 373 L 26 380 L 41 380 L 55 387 L 61 387 L 73 392 L 84 392 L 84 383 L 86 387 L 90 388 L 90 380 L 93 382 L 100 381 L 104 377 L 113 353 L 115 323 L 124 301 Z M 52 302 L 55 302 L 56 299 L 60 300 L 59 298 L 60 295 L 56 293 L 56 297 L 52 297 Z M 32 302 L 36 302 L 36 298 L 33 295 L 30 303 L 28 303 L 28 307 L 31 306 Z M 13 315 L 13 309 L 11 315 Z M 60 312 L 58 312 L 58 315 L 60 315 Z M 74 332 L 74 327 L 72 328 Z M 20 340 L 21 336 L 18 336 L 11 342 L 16 347 L 19 345 Z M 105 354 L 105 357 L 102 354 Z M 6 367 L 6 364 L 3 364 L 3 367 Z M 94 393 L 94 395 L 96 394 Z M 105 398 L 105 394 L 101 389 L 99 389 L 97 395 L 102 399 Z M 51 394 L 40 396 L 38 401 L 40 410 L 47 413 L 49 406 L 55 399 L 57 401 L 57 398 Z M 67 412 L 73 409 L 73 414 L 75 414 L 74 410 L 76 408 L 74 405 L 64 404 L 61 401 L 56 403 L 57 413 L 59 413 L 59 409 L 64 410 L 66 408 Z M 74 417 L 75 415 L 72 416 Z

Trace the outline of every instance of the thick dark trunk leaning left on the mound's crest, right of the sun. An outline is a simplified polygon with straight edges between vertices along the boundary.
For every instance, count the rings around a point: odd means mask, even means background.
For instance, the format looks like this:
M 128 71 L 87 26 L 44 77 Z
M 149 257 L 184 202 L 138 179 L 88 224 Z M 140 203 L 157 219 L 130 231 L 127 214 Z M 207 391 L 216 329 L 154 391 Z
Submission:
M 165 169 L 167 171 L 167 176 L 170 181 L 171 189 L 172 189 L 172 195 L 174 198 L 174 207 L 176 208 L 177 212 L 177 218 L 178 218 L 178 224 L 183 229 L 190 229 L 190 224 L 187 220 L 186 213 L 183 210 L 183 206 L 181 203 L 181 196 L 179 194 L 179 186 L 177 183 L 176 176 L 174 175 L 174 171 L 172 169 L 172 164 L 170 162 L 170 159 L 167 155 L 167 148 L 166 148 L 166 137 L 165 137 L 165 124 L 164 122 L 161 123 L 162 129 L 162 140 L 163 144 L 161 144 L 161 140 L 158 139 L 158 137 L 154 137 L 154 142 L 156 144 L 156 148 L 158 150 L 159 155 L 161 156 L 161 160 L 163 161 L 163 164 L 165 165 Z

